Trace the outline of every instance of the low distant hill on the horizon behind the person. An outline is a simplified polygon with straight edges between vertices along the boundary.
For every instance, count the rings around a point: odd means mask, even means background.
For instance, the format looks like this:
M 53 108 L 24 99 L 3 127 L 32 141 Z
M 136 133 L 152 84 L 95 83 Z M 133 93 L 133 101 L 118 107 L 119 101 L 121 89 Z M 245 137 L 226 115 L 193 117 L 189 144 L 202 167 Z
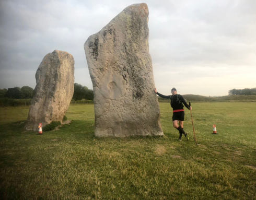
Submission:
M 220 101 L 252 101 L 256 102 L 256 95 L 228 95 L 222 97 L 206 97 L 201 95 L 182 95 L 184 99 L 191 102 L 220 102 Z M 168 101 L 158 97 L 158 101 Z

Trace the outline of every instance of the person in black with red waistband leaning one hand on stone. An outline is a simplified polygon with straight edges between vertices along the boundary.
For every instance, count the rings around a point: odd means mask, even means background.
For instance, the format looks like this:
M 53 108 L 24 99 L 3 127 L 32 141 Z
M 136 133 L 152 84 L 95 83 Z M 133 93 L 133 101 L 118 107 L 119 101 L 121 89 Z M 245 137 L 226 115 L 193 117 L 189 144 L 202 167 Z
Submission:
M 160 96 L 161 98 L 171 100 L 170 104 L 171 104 L 171 107 L 173 109 L 172 124 L 173 124 L 173 127 L 176 128 L 180 133 L 179 141 L 181 141 L 182 134 L 184 134 L 185 138 L 187 138 L 187 140 L 189 140 L 189 133 L 185 133 L 185 131 L 183 129 L 183 127 L 184 127 L 184 116 L 185 116 L 185 112 L 184 112 L 184 109 L 183 109 L 183 104 L 189 110 L 192 110 L 192 107 L 188 105 L 188 103 L 184 100 L 184 98 L 181 95 L 177 94 L 176 88 L 171 89 L 172 95 L 169 95 L 169 96 L 165 96 L 165 95 L 160 94 L 159 92 L 157 92 L 156 88 L 155 88 L 155 93 L 158 96 Z M 179 122 L 179 125 L 178 125 L 178 122 Z

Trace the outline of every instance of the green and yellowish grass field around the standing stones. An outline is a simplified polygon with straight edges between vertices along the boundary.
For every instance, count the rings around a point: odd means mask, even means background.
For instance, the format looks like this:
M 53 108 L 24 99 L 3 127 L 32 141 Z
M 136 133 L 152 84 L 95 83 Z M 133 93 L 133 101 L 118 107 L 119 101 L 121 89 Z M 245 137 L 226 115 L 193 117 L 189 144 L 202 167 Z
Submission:
M 71 105 L 71 124 L 43 135 L 24 131 L 28 107 L 0 108 L 0 198 L 256 199 L 256 103 L 192 107 L 197 146 L 178 142 L 165 102 L 154 138 L 95 138 L 93 104 Z

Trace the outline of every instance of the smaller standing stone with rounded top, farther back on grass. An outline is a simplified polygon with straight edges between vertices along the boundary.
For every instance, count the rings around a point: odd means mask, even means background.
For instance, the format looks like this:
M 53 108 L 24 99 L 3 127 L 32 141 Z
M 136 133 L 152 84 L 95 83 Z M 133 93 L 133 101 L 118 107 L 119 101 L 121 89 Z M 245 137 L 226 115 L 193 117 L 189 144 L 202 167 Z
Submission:
M 36 131 L 52 121 L 60 121 L 74 93 L 74 58 L 55 50 L 44 56 L 36 73 L 37 86 L 31 101 L 26 130 Z

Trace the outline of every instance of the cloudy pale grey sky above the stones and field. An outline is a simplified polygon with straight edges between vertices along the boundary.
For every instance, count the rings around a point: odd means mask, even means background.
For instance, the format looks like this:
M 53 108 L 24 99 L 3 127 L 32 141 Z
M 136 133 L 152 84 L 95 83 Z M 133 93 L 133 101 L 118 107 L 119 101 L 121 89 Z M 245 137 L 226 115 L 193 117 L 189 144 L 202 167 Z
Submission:
M 125 7 L 146 3 L 157 90 L 225 96 L 256 87 L 256 1 L 0 0 L 0 88 L 36 86 L 43 57 L 75 60 L 75 83 L 92 89 L 84 43 Z

